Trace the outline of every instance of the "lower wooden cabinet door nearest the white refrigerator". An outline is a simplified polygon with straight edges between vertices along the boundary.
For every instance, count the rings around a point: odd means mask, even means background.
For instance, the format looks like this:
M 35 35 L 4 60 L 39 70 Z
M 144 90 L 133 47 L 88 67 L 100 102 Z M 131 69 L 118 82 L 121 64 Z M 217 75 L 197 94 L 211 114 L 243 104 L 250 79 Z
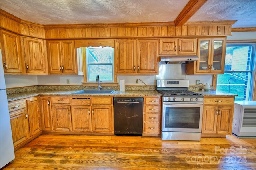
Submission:
M 14 148 L 29 138 L 28 114 L 26 110 L 10 114 Z

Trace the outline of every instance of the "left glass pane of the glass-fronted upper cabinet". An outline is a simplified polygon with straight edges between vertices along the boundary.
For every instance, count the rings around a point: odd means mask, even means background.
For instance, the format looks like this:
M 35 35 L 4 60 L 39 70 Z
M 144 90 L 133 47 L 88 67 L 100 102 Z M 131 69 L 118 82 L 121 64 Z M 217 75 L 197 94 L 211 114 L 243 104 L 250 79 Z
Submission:
M 210 40 L 200 41 L 200 58 L 199 58 L 199 70 L 208 69 L 208 55 L 210 49 Z

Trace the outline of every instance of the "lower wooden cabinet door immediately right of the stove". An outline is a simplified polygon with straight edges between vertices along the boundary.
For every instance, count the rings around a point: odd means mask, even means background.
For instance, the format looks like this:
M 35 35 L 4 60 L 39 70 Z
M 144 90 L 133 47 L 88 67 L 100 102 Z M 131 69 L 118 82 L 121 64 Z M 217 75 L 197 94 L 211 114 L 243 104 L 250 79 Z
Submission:
M 204 106 L 203 110 L 203 124 L 202 133 L 216 133 L 217 132 L 217 107 Z

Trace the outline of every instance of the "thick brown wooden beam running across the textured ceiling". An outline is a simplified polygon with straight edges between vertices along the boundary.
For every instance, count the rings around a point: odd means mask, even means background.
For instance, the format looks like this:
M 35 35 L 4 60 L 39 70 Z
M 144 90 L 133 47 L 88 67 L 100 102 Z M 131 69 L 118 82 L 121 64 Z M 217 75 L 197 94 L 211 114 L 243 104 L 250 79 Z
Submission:
M 174 20 L 175 26 L 183 26 L 207 0 L 190 0 L 188 4 L 183 8 L 178 17 Z

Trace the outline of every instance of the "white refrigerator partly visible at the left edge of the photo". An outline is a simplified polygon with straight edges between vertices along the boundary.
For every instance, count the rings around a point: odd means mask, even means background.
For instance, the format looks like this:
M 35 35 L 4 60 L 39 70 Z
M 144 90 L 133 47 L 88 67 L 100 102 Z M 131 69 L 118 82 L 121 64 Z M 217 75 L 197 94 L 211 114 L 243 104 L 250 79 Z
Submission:
M 15 158 L 2 63 L 0 49 L 0 169 Z

